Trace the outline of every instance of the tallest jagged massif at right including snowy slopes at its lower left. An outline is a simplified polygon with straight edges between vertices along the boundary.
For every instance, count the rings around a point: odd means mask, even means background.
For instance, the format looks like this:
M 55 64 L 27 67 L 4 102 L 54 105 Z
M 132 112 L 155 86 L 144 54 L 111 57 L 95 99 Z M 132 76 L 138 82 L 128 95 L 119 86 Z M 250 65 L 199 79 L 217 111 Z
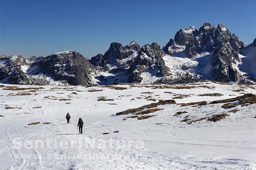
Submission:
M 163 50 L 173 57 L 197 61 L 198 65 L 186 70 L 194 79 L 251 83 L 255 74 L 246 75 L 250 69 L 246 72 L 240 69 L 247 65 L 239 58 L 247 50 L 245 47 L 224 25 L 219 24 L 215 28 L 210 23 L 204 23 L 198 31 L 195 27 L 180 29 Z

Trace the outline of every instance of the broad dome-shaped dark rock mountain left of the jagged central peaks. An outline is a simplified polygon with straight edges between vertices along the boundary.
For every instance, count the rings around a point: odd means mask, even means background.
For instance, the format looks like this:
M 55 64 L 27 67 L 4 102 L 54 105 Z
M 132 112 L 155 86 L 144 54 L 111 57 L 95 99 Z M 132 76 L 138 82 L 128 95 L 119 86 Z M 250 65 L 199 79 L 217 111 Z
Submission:
M 96 75 L 95 67 L 76 51 L 55 53 L 31 64 L 33 74 L 50 75 L 71 85 L 92 85 Z M 30 71 L 30 70 L 28 70 Z

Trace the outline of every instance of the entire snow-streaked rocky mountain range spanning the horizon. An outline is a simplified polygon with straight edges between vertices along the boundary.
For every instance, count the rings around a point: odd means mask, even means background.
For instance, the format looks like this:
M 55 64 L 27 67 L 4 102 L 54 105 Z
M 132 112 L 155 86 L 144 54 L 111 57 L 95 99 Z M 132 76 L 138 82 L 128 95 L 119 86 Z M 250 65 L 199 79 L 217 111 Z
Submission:
M 219 24 L 180 29 L 160 48 L 135 41 L 111 43 L 104 55 L 84 58 L 76 51 L 47 57 L 0 55 L 0 83 L 24 85 L 105 85 L 190 83 L 197 80 L 256 82 L 256 39 L 246 46 Z

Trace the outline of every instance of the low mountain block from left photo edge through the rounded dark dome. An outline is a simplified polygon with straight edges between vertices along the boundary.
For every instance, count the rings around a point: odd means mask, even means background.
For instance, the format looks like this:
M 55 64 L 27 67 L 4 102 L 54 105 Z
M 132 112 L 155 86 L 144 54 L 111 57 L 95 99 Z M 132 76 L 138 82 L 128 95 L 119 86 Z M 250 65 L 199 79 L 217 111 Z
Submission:
M 95 67 L 78 52 L 65 51 L 27 61 L 22 56 L 1 56 L 1 82 L 40 85 L 96 84 Z

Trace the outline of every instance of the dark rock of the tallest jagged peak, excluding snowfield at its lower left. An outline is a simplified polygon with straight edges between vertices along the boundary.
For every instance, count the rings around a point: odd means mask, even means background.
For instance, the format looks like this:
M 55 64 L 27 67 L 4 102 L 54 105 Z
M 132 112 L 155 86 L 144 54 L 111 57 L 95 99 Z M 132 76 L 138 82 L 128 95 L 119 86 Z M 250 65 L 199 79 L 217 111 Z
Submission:
M 179 48 L 182 48 L 182 46 L 185 46 L 183 55 L 190 59 L 205 52 L 213 54 L 209 59 L 211 71 L 208 72 L 208 77 L 204 76 L 204 78 L 219 82 L 246 82 L 235 67 L 238 62 L 241 62 L 239 58 L 241 49 L 246 46 L 235 34 L 231 34 L 224 25 L 219 24 L 215 28 L 210 23 L 204 23 L 199 31 L 194 27 L 180 29 L 175 38 L 176 40 L 167 43 L 163 48 L 171 56 L 180 52 Z

